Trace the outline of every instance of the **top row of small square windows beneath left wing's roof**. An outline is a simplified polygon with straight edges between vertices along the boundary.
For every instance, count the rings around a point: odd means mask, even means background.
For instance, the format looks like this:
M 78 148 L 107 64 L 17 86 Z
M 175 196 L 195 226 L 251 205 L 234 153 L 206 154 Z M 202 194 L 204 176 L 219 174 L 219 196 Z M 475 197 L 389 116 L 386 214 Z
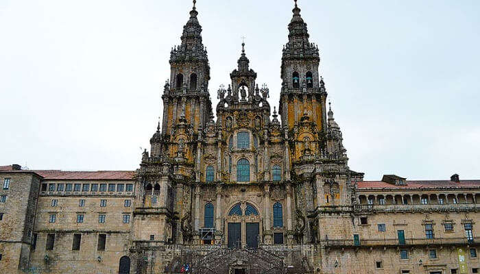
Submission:
M 42 184 L 42 191 L 66 192 L 133 192 L 133 184 Z

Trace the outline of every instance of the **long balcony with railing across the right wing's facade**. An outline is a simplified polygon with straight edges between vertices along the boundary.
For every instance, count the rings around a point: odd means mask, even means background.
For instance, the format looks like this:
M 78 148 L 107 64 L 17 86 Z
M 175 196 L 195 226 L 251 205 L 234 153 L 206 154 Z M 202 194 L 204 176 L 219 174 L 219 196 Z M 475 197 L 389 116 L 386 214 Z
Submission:
M 385 247 L 385 246 L 412 246 L 412 245 L 480 245 L 480 237 L 475 238 L 398 238 L 388 239 L 354 239 L 349 240 L 322 240 L 325 247 Z

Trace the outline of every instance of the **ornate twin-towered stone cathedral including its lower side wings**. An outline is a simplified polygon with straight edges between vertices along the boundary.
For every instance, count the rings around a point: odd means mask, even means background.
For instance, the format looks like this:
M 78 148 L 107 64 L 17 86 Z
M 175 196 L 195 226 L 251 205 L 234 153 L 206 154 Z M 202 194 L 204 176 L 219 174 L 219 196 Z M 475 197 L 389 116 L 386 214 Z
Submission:
M 197 16 L 139 169 L 0 166 L 0 273 L 479 273 L 480 180 L 350 170 L 296 1 L 278 108 L 244 43 L 212 104 Z

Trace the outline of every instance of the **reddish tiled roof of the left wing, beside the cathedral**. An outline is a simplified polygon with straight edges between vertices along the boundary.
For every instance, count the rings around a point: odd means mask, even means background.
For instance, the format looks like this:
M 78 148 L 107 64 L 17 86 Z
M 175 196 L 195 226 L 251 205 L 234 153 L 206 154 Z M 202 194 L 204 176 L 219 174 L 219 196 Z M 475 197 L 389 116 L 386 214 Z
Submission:
M 34 171 L 45 179 L 133 179 L 135 171 Z

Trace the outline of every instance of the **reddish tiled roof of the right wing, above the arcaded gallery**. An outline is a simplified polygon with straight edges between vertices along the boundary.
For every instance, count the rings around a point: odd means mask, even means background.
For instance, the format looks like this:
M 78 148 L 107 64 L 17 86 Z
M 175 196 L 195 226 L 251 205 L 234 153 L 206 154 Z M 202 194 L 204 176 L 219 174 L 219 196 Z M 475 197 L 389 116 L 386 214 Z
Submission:
M 406 181 L 405 185 L 396 186 L 381 181 L 357 182 L 358 188 L 480 188 L 480 180 L 463 180 L 459 183 L 444 181 Z

